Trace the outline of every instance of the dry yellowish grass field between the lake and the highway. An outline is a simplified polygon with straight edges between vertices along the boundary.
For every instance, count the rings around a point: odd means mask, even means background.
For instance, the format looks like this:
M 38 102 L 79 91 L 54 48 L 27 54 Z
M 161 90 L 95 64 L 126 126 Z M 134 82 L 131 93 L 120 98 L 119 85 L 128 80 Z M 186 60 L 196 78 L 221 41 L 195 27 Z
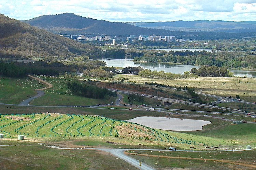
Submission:
M 141 78 L 138 75 L 118 74 L 115 79 L 128 78 L 130 81 L 136 81 L 137 84 L 145 82 L 157 82 L 171 86 L 195 87 L 196 91 L 201 91 L 213 95 L 235 97 L 239 95 L 242 100 L 251 102 L 256 101 L 256 79 L 255 78 L 236 78 L 236 77 L 198 77 L 198 79 L 150 79 Z M 239 80 L 241 83 L 239 83 Z

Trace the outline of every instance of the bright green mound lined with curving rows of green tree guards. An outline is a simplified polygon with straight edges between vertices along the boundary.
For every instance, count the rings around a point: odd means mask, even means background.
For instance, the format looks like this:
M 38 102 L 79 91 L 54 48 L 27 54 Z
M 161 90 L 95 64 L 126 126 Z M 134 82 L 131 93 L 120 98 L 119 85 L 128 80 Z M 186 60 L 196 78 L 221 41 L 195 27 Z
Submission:
M 195 147 L 231 145 L 228 140 L 148 128 L 137 123 L 92 115 L 37 113 L 0 115 L 0 133 L 4 138 L 118 137 L 163 145 Z

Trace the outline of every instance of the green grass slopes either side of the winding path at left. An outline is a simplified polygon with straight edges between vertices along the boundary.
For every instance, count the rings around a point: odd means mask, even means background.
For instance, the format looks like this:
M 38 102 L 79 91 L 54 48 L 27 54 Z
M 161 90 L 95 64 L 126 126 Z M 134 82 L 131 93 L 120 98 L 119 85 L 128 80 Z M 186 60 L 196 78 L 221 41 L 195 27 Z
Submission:
M 76 105 L 90 106 L 95 104 L 108 104 L 115 101 L 115 98 L 90 99 L 81 96 L 73 96 L 66 86 L 68 82 L 79 81 L 76 79 L 58 78 L 52 76 L 38 76 L 41 79 L 53 84 L 53 88 L 44 90 L 45 95 L 30 102 L 30 105 L 56 106 Z M 83 83 L 83 82 L 82 82 Z M 0 102 L 6 104 L 19 104 L 23 100 L 36 95 L 35 89 L 44 88 L 47 85 L 33 78 L 8 78 L 0 77 Z

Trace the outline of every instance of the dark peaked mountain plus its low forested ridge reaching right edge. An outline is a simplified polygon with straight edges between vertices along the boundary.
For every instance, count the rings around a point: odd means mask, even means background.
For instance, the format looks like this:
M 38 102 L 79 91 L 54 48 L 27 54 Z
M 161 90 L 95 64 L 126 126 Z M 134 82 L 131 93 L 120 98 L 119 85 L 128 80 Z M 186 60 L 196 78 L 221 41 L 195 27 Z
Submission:
M 255 33 L 217 33 L 217 32 L 191 32 L 191 31 L 170 31 L 164 29 L 150 29 L 137 27 L 122 22 L 109 22 L 77 16 L 73 13 L 64 13 L 58 15 L 43 15 L 37 18 L 23 21 L 32 26 L 46 29 L 55 34 L 92 34 L 92 35 L 110 35 L 110 36 L 129 36 L 129 35 L 161 35 L 175 36 L 184 39 L 229 39 L 255 36 Z

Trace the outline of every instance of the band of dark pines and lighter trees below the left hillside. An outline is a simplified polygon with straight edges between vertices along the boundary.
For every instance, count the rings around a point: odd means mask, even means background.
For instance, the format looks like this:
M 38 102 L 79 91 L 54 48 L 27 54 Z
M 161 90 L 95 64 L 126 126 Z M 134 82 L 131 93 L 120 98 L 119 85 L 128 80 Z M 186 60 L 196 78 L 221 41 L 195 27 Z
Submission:
M 59 75 L 63 77 L 76 77 L 76 72 L 84 73 L 84 77 L 112 77 L 120 73 L 115 67 L 106 67 L 106 63 L 99 60 L 89 62 L 45 62 L 42 60 L 33 63 L 0 61 L 0 74 L 9 77 L 24 77 L 27 74 Z

